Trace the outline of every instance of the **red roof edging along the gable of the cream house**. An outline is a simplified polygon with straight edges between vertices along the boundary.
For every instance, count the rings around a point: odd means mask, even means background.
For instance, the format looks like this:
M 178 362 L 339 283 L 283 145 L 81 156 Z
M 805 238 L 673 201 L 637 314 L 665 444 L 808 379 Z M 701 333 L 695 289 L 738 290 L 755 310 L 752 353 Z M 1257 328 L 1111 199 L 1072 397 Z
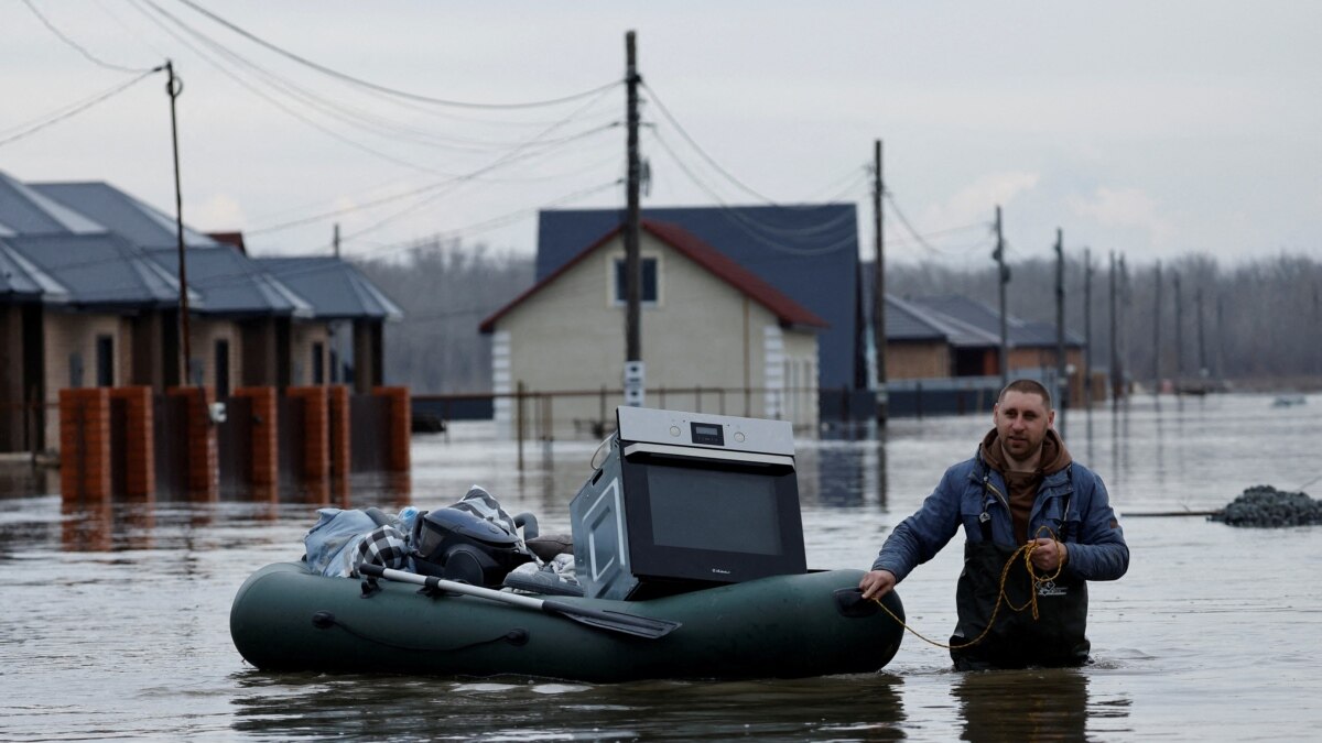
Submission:
M 657 219 L 642 219 L 640 227 L 654 235 L 661 242 L 669 245 L 677 250 L 681 255 L 689 258 L 698 266 L 702 266 L 707 272 L 717 276 L 718 279 L 726 282 L 736 291 L 747 295 L 750 299 L 765 307 L 776 319 L 787 325 L 800 325 L 810 328 L 825 328 L 826 321 L 814 315 L 812 311 L 800 305 L 795 300 L 789 299 L 775 287 L 763 282 L 751 271 L 743 268 L 728 256 L 722 255 L 719 250 L 711 247 L 710 245 L 701 241 L 697 235 L 689 233 L 678 225 L 670 225 L 666 222 L 660 222 Z M 586 249 L 580 250 L 578 255 L 571 258 L 568 262 L 563 263 L 559 268 L 553 271 L 550 275 L 545 276 L 542 280 L 537 282 L 531 288 L 524 293 L 514 297 L 509 304 L 497 309 L 486 320 L 483 320 L 480 329 L 484 333 L 489 333 L 494 329 L 496 323 L 509 313 L 512 309 L 522 304 L 525 300 L 533 295 L 542 291 L 543 287 L 553 283 L 571 267 L 583 262 L 588 255 L 595 253 L 602 246 L 609 243 L 616 235 L 620 234 L 623 226 L 616 226 L 611 231 L 599 237 Z

